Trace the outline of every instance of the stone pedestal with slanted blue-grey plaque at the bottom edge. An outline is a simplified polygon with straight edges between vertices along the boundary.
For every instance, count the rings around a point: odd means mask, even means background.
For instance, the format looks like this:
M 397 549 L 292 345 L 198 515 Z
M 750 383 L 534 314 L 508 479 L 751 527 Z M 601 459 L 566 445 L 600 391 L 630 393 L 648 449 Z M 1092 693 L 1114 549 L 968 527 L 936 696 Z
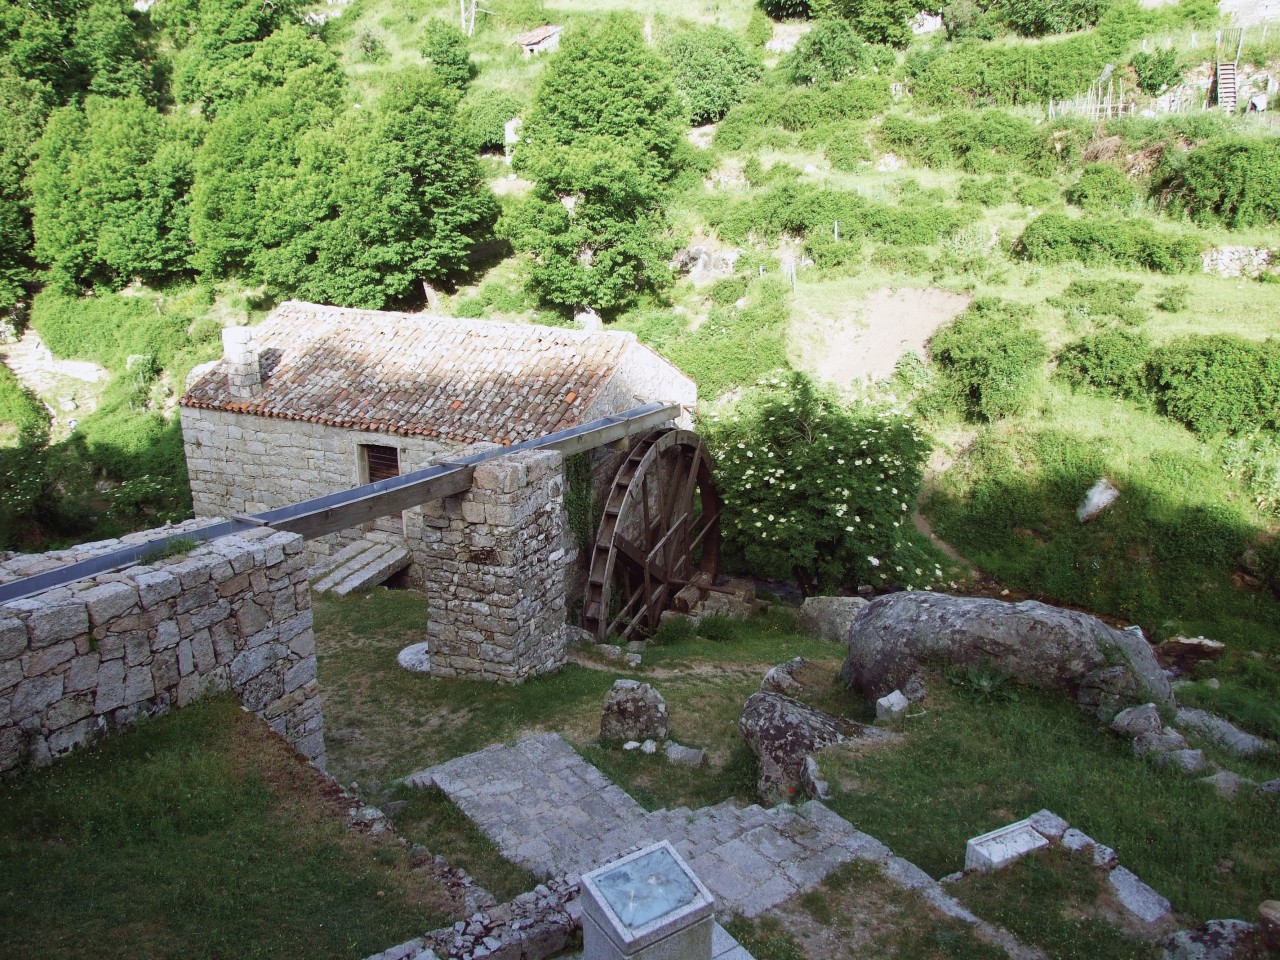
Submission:
M 582 874 L 582 960 L 710 960 L 716 900 L 666 840 Z

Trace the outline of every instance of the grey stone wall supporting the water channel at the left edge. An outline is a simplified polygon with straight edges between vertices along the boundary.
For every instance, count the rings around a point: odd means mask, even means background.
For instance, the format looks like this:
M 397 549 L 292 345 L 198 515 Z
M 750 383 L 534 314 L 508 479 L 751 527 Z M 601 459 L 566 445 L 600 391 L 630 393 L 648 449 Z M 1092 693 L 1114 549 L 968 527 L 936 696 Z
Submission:
M 324 765 L 302 539 L 269 529 L 0 605 L 0 772 L 233 691 Z

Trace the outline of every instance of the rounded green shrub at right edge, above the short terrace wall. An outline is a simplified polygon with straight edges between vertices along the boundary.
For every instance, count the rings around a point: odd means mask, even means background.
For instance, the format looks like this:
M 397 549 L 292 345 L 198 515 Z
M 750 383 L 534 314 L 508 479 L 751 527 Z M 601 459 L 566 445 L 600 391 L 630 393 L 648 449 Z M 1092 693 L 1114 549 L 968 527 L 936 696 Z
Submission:
M 1187 156 L 1178 202 L 1196 220 L 1258 227 L 1280 218 L 1280 140 L 1225 137 Z

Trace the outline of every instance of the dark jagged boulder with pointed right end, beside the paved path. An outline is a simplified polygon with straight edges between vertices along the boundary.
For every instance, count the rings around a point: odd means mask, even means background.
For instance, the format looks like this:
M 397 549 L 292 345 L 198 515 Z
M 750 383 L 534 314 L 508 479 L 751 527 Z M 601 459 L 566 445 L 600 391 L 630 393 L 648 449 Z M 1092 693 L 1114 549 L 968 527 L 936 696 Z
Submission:
M 737 721 L 759 760 L 762 800 L 790 800 L 804 788 L 805 758 L 854 736 L 887 739 L 884 731 L 832 717 L 782 694 L 753 694 Z

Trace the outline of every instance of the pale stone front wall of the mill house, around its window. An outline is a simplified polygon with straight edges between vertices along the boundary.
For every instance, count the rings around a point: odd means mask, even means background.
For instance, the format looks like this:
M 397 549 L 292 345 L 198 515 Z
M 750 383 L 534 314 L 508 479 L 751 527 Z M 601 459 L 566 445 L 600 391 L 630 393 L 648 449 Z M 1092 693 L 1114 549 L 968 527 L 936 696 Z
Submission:
M 422 470 L 462 447 L 193 407 L 182 408 L 182 436 L 191 498 L 200 517 L 261 513 L 366 483 L 360 467 L 361 444 L 398 448 L 402 474 Z M 411 541 L 419 522 L 417 509 L 404 511 L 404 534 Z M 372 540 L 393 539 L 376 530 L 343 530 L 310 541 L 308 557 L 315 562 L 362 535 Z

